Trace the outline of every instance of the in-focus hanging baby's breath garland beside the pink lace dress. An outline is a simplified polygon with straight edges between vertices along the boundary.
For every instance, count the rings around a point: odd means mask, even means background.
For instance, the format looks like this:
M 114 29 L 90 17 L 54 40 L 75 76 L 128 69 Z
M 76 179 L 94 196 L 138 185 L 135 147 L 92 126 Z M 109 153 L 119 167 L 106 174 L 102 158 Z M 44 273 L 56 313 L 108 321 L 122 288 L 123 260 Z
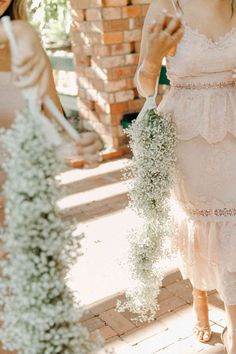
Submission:
M 144 113 L 143 113 L 144 112 Z M 175 171 L 175 127 L 170 114 L 143 108 L 128 129 L 133 159 L 126 178 L 130 179 L 130 206 L 143 220 L 129 235 L 129 266 L 134 285 L 126 290 L 126 301 L 117 310 L 137 314 L 134 321 L 155 319 L 157 297 L 163 280 L 161 261 L 172 236 L 170 194 Z

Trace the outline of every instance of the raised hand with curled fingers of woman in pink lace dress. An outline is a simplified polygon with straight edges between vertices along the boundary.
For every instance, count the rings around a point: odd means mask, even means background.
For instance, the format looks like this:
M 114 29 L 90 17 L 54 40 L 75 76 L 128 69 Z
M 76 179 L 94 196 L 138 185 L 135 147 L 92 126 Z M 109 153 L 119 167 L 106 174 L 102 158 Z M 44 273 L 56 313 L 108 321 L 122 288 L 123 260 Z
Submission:
M 162 59 L 176 48 L 183 34 L 180 17 L 168 15 L 163 11 L 148 28 L 144 66 L 152 71 L 159 69 Z

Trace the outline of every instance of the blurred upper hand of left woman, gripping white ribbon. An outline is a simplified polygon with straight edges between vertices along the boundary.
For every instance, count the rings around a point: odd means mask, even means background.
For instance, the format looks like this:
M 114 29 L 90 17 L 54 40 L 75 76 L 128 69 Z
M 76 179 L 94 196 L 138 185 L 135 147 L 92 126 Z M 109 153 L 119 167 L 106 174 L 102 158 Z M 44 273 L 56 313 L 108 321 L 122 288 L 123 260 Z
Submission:
M 14 84 L 20 89 L 37 86 L 39 99 L 48 89 L 49 60 L 33 27 L 24 21 L 13 22 L 18 54 L 12 56 Z

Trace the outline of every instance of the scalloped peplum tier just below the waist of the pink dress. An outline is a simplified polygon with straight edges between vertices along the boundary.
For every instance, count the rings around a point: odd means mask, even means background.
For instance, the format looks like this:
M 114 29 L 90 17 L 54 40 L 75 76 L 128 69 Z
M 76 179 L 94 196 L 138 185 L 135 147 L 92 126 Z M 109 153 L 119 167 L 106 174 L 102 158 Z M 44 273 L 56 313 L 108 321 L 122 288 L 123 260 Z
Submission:
M 172 88 L 158 106 L 170 112 L 179 140 L 201 136 L 209 144 L 227 134 L 236 138 L 236 89 L 208 89 L 204 92 Z

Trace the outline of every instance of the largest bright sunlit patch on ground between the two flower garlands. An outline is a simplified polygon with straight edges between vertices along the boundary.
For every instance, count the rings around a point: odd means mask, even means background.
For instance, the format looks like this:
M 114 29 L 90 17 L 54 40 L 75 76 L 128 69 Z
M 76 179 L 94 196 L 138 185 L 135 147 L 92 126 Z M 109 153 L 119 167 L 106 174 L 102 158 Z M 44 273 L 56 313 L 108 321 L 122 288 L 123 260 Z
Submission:
M 90 304 L 128 286 L 127 233 L 136 219 L 130 211 L 123 211 L 78 227 L 86 235 L 82 241 L 84 255 L 71 271 L 70 285 L 79 289 L 83 303 Z

